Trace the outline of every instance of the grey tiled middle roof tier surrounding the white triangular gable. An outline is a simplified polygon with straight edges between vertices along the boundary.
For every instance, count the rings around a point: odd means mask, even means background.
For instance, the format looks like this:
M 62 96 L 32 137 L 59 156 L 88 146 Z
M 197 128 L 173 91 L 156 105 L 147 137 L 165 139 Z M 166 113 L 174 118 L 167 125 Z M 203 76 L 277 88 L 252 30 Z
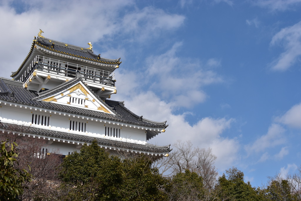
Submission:
M 70 80 L 70 83 L 76 82 L 76 78 L 74 80 Z M 67 86 L 68 83 L 65 83 Z M 72 107 L 72 106 L 66 106 L 66 105 L 60 105 L 55 104 L 51 102 L 45 102 L 45 101 L 37 101 L 36 97 L 39 97 L 40 95 L 43 95 L 44 93 L 38 94 L 35 91 L 30 91 L 26 88 L 23 88 L 23 83 L 20 81 L 13 81 L 9 80 L 7 78 L 0 78 L 0 100 L 4 101 L 10 101 L 14 103 L 19 104 L 25 104 L 25 105 L 31 105 L 51 110 L 57 110 L 62 111 L 66 113 L 74 113 L 78 115 L 84 115 L 84 116 L 90 116 L 94 118 L 101 118 L 104 120 L 112 120 L 117 121 L 121 123 L 129 123 L 139 126 L 146 126 L 146 127 L 153 127 L 158 129 L 164 129 L 168 125 L 166 125 L 166 122 L 155 122 L 151 120 L 146 120 L 144 118 L 141 118 L 140 116 L 132 113 L 130 110 L 128 110 L 126 107 L 124 107 L 123 102 L 119 101 L 111 101 L 111 100 L 105 100 L 104 104 L 106 104 L 108 107 L 111 108 L 113 114 L 104 113 L 100 111 L 94 111 L 94 110 L 88 110 L 84 108 L 78 108 L 78 107 Z M 11 92 L 9 92 L 9 90 Z M 54 92 L 55 89 L 53 89 L 50 92 Z M 92 90 L 91 90 L 92 91 Z M 5 92 L 5 93 L 4 93 Z M 93 91 L 92 91 L 93 92 Z M 11 95 L 11 94 L 13 95 Z M 94 92 L 93 92 L 94 93 Z M 95 93 L 94 93 L 95 94 Z M 97 96 L 95 94 L 95 96 Z M 150 139 L 157 135 L 157 133 L 151 132 L 150 130 L 147 130 L 147 139 Z

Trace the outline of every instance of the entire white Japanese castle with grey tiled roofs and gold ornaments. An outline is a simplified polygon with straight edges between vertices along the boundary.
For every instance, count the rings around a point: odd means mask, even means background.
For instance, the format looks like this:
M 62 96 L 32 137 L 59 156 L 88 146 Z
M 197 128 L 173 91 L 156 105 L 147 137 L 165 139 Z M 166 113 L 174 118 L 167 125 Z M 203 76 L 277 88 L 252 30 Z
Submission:
M 168 156 L 167 146 L 147 141 L 165 132 L 166 122 L 132 113 L 116 94 L 119 59 L 105 59 L 89 47 L 43 37 L 40 30 L 23 63 L 11 77 L 0 78 L 0 129 L 45 139 L 45 153 L 79 151 L 93 139 L 111 154 Z M 47 151 L 46 151 L 47 150 Z

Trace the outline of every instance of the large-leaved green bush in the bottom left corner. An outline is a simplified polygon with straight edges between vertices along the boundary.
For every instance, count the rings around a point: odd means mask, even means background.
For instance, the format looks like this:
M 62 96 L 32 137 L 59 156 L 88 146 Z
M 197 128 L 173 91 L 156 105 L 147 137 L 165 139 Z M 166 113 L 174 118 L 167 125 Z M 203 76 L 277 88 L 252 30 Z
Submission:
M 15 200 L 17 196 L 23 194 L 24 183 L 30 182 L 32 175 L 25 169 L 14 168 L 14 162 L 17 162 L 18 157 L 17 143 L 10 143 L 7 147 L 6 143 L 1 142 L 0 150 L 0 197 L 3 200 Z

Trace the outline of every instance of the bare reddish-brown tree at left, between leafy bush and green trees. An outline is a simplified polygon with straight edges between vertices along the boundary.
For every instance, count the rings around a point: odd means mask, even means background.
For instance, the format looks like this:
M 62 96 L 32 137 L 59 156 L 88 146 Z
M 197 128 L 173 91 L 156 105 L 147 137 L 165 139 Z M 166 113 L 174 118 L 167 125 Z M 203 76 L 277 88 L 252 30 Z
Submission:
M 19 196 L 22 200 L 33 200 L 39 195 L 51 194 L 59 184 L 57 178 L 57 167 L 61 163 L 60 155 L 54 151 L 48 151 L 46 141 L 28 137 L 27 127 L 11 127 L 0 135 L 0 139 L 6 139 L 9 143 L 17 143 L 17 163 L 14 168 L 25 169 L 32 174 L 32 180 L 25 182 L 23 194 Z M 13 130 L 13 132 L 11 131 Z M 43 151 L 44 149 L 44 151 Z M 30 165 L 30 170 L 28 168 Z

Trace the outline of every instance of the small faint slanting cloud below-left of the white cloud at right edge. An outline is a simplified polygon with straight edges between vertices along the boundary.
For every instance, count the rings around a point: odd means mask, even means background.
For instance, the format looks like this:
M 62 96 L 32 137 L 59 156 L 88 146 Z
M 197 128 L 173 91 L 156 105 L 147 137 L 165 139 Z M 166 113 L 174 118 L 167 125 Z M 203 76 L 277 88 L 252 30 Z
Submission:
M 285 143 L 284 128 L 279 124 L 272 124 L 268 128 L 267 134 L 258 138 L 252 144 L 246 145 L 245 149 L 248 154 L 263 152 L 266 148 L 272 148 Z

